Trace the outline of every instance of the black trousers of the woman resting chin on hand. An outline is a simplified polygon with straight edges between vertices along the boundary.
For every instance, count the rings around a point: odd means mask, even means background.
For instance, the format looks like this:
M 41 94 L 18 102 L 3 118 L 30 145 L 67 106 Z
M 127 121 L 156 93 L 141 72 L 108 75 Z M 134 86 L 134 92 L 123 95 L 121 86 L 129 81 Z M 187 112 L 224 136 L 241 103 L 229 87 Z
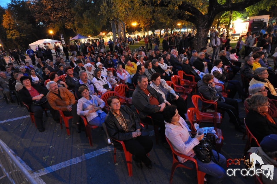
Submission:
M 230 121 L 234 123 L 235 127 L 239 127 L 241 122 L 239 120 L 239 105 L 235 99 L 225 98 L 225 102 L 217 101 L 217 107 L 228 113 Z

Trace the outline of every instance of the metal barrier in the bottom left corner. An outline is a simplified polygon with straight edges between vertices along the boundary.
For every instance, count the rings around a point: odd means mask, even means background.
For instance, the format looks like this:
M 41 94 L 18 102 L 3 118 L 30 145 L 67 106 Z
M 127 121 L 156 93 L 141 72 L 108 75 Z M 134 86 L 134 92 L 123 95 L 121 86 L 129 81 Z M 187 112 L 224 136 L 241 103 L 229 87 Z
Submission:
M 37 182 L 31 177 L 27 169 L 16 159 L 8 146 L 0 139 L 0 167 L 4 173 L 0 179 L 7 177 L 11 183 L 31 183 Z

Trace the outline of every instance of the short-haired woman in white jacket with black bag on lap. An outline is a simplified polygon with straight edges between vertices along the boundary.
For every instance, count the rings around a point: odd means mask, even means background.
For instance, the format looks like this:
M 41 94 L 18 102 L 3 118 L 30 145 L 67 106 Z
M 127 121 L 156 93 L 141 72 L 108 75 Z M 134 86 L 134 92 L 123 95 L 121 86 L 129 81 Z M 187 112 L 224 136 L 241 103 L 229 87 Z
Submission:
M 92 83 L 96 87 L 97 91 L 103 93 L 106 93 L 107 91 L 111 91 L 112 86 L 107 81 L 107 79 L 103 76 L 101 76 L 101 70 L 98 68 L 94 70 L 93 72 L 94 78 L 92 79 Z

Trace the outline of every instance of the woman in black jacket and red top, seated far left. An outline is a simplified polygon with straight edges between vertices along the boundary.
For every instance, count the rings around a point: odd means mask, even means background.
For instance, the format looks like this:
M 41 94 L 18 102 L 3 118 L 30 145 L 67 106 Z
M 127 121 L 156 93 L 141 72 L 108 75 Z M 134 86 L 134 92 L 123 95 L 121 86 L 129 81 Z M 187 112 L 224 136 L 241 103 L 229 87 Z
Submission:
M 35 124 L 37 125 L 38 131 L 44 132 L 42 114 L 44 109 L 49 109 L 53 119 L 59 122 L 59 116 L 57 112 L 51 108 L 45 98 L 48 90 L 40 85 L 31 84 L 29 77 L 22 76 L 20 82 L 23 84 L 23 88 L 18 91 L 20 99 L 29 107 L 29 110 L 34 113 Z M 33 102 L 40 104 L 36 105 Z

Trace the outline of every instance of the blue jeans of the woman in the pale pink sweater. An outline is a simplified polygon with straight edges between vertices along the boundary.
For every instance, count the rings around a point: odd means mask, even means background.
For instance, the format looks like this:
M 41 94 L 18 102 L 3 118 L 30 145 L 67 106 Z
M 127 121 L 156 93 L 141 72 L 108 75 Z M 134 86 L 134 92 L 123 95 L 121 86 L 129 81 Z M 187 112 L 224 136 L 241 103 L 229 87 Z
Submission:
M 214 157 L 216 158 L 216 161 L 218 161 L 218 155 L 215 150 L 213 150 Z M 201 162 L 196 156 L 194 156 L 194 159 L 197 161 L 198 170 L 205 172 L 207 175 L 207 182 L 208 183 L 220 183 L 222 179 L 226 176 L 225 170 L 222 168 L 224 165 L 226 165 L 226 158 L 219 153 L 219 161 L 218 164 L 216 164 L 212 157 L 211 162 L 204 163 Z M 195 168 L 195 165 L 192 164 L 192 162 L 187 161 L 184 162 L 185 166 L 193 167 Z

